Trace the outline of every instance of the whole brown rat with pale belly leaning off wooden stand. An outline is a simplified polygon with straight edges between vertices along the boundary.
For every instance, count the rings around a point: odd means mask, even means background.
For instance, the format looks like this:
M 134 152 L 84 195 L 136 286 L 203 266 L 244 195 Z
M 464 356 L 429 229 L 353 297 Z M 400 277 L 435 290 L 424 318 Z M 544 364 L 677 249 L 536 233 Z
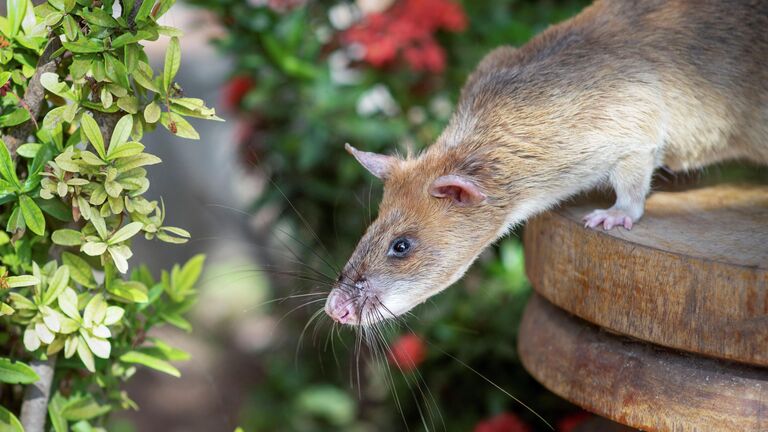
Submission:
M 586 227 L 631 229 L 660 166 L 768 164 L 768 1 L 597 1 L 487 54 L 418 156 L 346 149 L 384 192 L 325 311 L 365 325 L 426 301 L 580 192 L 616 193 Z

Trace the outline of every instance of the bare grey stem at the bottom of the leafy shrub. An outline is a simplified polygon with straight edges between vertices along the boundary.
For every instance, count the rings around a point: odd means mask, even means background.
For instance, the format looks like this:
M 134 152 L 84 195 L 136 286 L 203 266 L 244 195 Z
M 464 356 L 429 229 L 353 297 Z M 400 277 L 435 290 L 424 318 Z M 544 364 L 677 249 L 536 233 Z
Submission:
M 24 390 L 21 425 L 25 432 L 44 432 L 45 420 L 48 417 L 48 398 L 51 395 L 53 372 L 56 369 L 56 356 L 50 356 L 48 360 L 34 360 L 30 366 L 40 380 L 29 384 Z

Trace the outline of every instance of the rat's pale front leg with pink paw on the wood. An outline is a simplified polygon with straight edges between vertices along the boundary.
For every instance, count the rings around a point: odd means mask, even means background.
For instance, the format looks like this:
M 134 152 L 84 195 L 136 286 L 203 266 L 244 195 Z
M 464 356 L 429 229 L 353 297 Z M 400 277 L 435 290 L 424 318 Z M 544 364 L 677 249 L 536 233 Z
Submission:
M 609 230 L 615 226 L 632 229 L 645 209 L 645 196 L 651 188 L 653 155 L 641 153 L 622 159 L 610 175 L 611 185 L 616 191 L 616 203 L 605 210 L 595 210 L 583 219 L 585 227 L 603 225 Z

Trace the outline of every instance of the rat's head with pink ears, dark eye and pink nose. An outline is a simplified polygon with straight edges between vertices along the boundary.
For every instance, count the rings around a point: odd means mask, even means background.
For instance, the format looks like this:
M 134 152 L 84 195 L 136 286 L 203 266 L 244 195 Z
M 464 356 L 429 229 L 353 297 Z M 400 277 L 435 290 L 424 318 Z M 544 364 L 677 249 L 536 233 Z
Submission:
M 363 235 L 326 301 L 340 323 L 394 318 L 442 291 L 466 271 L 498 219 L 476 177 L 427 152 L 417 159 L 349 151 L 384 181 L 379 215 Z M 465 170 L 466 171 L 466 170 Z

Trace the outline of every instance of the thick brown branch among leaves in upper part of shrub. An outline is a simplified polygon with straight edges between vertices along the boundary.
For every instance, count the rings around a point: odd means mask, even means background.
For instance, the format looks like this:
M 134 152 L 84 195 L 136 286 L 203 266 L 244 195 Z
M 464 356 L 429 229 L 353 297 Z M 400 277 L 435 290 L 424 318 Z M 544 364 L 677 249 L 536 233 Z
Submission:
M 29 79 L 29 85 L 27 86 L 27 91 L 24 92 L 24 98 L 19 101 L 21 106 L 25 106 L 29 110 L 30 120 L 36 119 L 40 115 L 40 109 L 45 100 L 45 88 L 40 83 L 40 76 L 46 72 L 56 71 L 58 59 L 51 58 L 51 54 L 59 48 L 61 48 L 61 40 L 59 40 L 58 36 L 51 36 L 50 42 L 48 42 L 43 54 L 37 61 L 35 74 Z M 27 137 L 34 131 L 35 122 L 30 120 L 10 128 L 8 134 L 3 136 L 3 141 L 6 147 L 8 147 L 8 152 L 11 156 L 16 156 L 16 149 L 21 144 L 24 144 Z

